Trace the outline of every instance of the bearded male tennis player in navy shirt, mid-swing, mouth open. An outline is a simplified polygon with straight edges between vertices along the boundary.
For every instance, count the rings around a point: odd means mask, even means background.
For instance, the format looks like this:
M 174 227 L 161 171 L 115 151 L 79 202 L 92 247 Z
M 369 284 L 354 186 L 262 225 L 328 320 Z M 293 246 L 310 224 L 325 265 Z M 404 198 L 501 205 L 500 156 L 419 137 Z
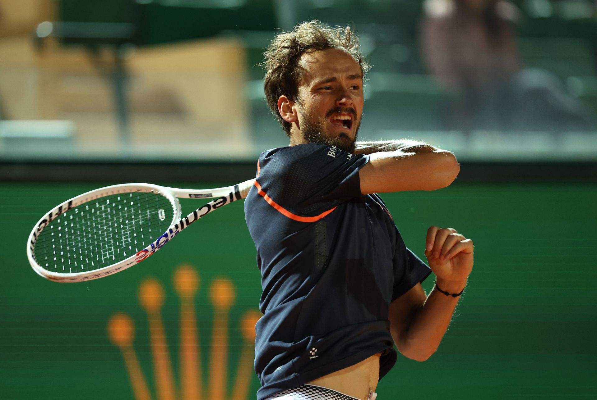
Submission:
M 473 264 L 470 240 L 431 227 L 429 268 L 376 193 L 443 188 L 459 166 L 427 144 L 356 142 L 367 65 L 349 28 L 313 21 L 281 33 L 266 66 L 290 147 L 261 154 L 245 200 L 263 287 L 257 398 L 371 400 L 394 344 L 417 361 L 436 351 Z

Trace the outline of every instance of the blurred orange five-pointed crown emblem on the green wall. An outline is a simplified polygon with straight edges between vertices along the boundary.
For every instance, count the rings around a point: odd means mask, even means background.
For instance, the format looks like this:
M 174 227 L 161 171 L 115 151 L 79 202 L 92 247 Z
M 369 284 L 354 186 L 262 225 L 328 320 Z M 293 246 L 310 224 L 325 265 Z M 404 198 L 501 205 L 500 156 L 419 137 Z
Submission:
M 255 376 L 253 370 L 255 324 L 261 317 L 261 313 L 250 309 L 238 319 L 231 318 L 230 310 L 236 297 L 233 282 L 224 277 L 213 280 L 209 286 L 207 301 L 196 298 L 199 283 L 198 272 L 189 265 L 181 265 L 174 272 L 174 292 L 178 294 L 180 304 L 180 329 L 177 340 L 179 343 L 178 373 L 175 373 L 176 367 L 173 367 L 168 349 L 171 341 L 167 340 L 168 333 L 177 330 L 164 327 L 164 323 L 167 323 L 169 318 L 166 321 L 162 320 L 162 308 L 170 305 L 170 309 L 166 312 L 172 315 L 173 302 L 171 299 L 168 299 L 168 302 L 165 301 L 165 294 L 169 291 L 165 290 L 158 280 L 152 278 L 144 280 L 139 286 L 138 295 L 139 303 L 147 313 L 147 322 L 141 323 L 140 326 L 147 326 L 147 331 L 142 330 L 137 336 L 140 337 L 141 343 L 147 343 L 147 337 L 149 337 L 148 348 L 141 347 L 139 354 L 150 354 L 153 368 L 147 368 L 147 365 L 144 366 L 145 368 L 141 367 L 144 357 L 141 359 L 137 357 L 133 343 L 135 339 L 133 319 L 122 312 L 117 312 L 109 318 L 107 334 L 122 354 L 135 400 L 255 398 L 254 392 L 251 391 L 251 381 Z M 195 312 L 196 305 L 199 306 L 199 312 Z M 212 307 L 213 319 L 201 320 L 205 315 L 204 310 Z M 232 315 L 238 314 L 232 312 Z M 201 328 L 198 328 L 198 325 Z M 209 331 L 206 327 L 210 325 L 211 343 L 210 346 L 205 346 L 204 343 L 207 342 L 202 334 Z M 237 327 L 240 335 L 235 331 Z M 238 336 L 242 339 L 238 340 Z M 229 346 L 230 339 L 234 340 L 233 346 Z M 209 351 L 208 358 L 201 355 L 204 349 Z M 239 356 L 233 355 L 232 352 L 236 352 Z M 229 366 L 231 359 L 238 360 L 236 365 Z M 203 360 L 208 360 L 207 365 L 202 364 Z M 150 370 L 153 370 L 153 377 L 146 374 L 146 371 Z M 179 382 L 176 382 L 176 377 L 179 377 Z M 150 392 L 151 388 L 155 388 L 155 393 Z M 124 394 L 121 393 L 121 395 Z

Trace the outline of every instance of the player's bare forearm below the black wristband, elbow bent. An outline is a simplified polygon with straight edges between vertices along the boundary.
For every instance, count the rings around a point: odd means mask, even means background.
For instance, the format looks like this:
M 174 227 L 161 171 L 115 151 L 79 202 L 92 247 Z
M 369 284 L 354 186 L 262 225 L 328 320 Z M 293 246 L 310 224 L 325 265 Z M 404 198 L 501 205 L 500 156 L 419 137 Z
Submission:
M 438 280 L 438 286 L 448 293 L 460 293 L 466 282 L 448 283 Z M 439 347 L 460 297 L 446 296 L 435 287 L 423 307 L 414 315 L 404 334 L 401 351 L 408 358 L 425 361 Z

